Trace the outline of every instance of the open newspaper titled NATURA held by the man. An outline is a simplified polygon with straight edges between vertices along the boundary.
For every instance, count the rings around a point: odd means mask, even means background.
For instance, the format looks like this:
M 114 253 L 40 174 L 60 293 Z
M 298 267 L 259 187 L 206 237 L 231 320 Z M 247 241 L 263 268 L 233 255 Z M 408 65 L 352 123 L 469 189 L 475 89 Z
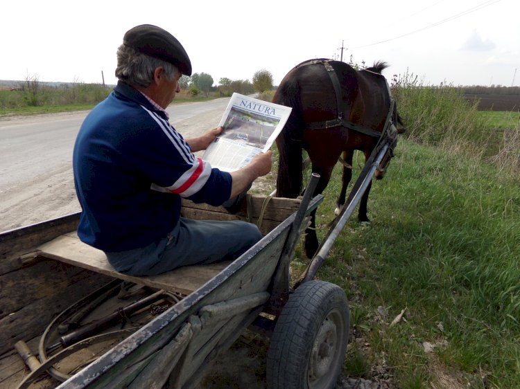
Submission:
M 218 124 L 223 131 L 202 159 L 211 167 L 233 172 L 270 149 L 291 114 L 291 107 L 233 93 Z

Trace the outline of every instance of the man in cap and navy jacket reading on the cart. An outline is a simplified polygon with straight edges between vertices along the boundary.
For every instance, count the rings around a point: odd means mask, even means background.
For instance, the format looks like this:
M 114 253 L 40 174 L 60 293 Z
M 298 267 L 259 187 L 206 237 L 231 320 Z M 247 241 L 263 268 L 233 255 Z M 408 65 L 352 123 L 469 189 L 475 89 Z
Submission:
M 184 139 L 168 123 L 165 109 L 180 91 L 182 74 L 191 75 L 191 62 L 173 35 L 151 25 L 128 30 L 117 51 L 118 84 L 76 138 L 78 236 L 105 251 L 122 273 L 155 275 L 234 259 L 262 237 L 243 221 L 180 217 L 181 197 L 219 206 L 271 169 L 271 152 L 232 173 L 193 155 L 221 129 Z

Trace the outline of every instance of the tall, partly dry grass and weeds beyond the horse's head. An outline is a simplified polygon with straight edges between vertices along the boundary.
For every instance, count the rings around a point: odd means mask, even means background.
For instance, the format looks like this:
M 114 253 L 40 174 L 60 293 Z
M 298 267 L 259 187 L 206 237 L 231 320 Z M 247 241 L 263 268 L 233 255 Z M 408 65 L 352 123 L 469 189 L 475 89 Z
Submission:
M 498 131 L 489 116 L 477 111 L 478 100 L 468 102 L 462 89 L 452 84 L 424 85 L 410 73 L 393 80 L 392 92 L 406 122 L 404 137 L 519 172 L 518 121 L 516 126 Z

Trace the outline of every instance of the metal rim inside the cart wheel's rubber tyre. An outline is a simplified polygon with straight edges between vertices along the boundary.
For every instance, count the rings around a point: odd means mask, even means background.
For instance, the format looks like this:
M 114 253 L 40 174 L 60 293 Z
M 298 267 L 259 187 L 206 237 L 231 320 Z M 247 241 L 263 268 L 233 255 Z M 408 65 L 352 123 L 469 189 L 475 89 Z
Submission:
M 344 333 L 343 317 L 336 309 L 330 311 L 314 339 L 307 370 L 309 388 L 322 388 L 329 381 L 330 373 L 338 361 Z

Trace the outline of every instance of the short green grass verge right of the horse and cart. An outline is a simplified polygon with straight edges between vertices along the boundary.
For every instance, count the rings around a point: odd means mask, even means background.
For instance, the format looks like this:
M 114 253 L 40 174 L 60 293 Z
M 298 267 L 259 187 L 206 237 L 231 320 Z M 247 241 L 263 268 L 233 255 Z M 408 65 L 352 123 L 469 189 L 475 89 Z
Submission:
M 336 166 L 318 210 L 322 235 L 339 190 Z M 401 140 L 372 186 L 372 224 L 354 215 L 318 273 L 347 292 L 361 339 L 351 339 L 345 374 L 370 378 L 383 365 L 399 388 L 443 387 L 446 377 L 520 387 L 519 215 L 518 176 Z M 299 249 L 300 268 L 302 258 Z M 401 309 L 404 320 L 390 327 Z

